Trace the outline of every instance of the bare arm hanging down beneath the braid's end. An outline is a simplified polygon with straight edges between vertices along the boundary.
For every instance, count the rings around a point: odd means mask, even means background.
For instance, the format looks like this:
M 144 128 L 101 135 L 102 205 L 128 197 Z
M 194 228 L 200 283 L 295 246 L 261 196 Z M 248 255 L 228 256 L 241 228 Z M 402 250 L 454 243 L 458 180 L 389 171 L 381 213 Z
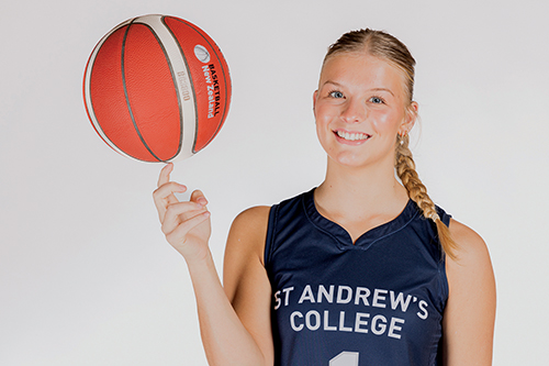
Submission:
M 447 259 L 449 297 L 444 330 L 445 365 L 492 365 L 495 279 L 484 241 L 452 220 L 458 258 Z

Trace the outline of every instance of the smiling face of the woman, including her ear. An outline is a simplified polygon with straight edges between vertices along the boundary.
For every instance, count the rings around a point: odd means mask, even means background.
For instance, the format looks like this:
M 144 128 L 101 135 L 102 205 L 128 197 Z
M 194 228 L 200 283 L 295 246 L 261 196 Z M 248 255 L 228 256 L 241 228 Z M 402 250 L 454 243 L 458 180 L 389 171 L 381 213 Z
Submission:
M 380 58 L 358 53 L 329 57 L 314 93 L 318 140 L 330 157 L 346 166 L 390 164 L 399 133 L 415 122 L 403 71 Z

